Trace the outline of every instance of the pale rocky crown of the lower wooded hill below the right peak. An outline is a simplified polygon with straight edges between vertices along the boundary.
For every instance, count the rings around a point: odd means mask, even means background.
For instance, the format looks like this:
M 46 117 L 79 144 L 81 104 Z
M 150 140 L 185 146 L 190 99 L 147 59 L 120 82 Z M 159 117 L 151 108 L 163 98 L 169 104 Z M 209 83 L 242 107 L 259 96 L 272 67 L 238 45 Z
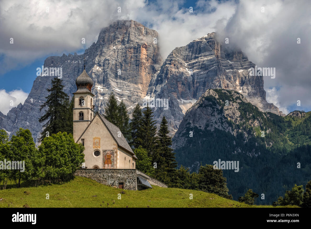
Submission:
M 178 149 L 187 144 L 183 136 L 188 136 L 189 130 L 193 131 L 194 129 L 211 132 L 217 129 L 235 137 L 242 133 L 243 141 L 248 141 L 248 139 L 256 136 L 256 132 L 249 131 L 248 127 L 260 128 L 266 117 L 254 105 L 249 106 L 248 110 L 244 111 L 243 106 L 245 104 L 249 104 L 249 101 L 238 92 L 208 89 L 187 110 L 178 131 L 174 135 L 172 147 Z M 260 115 L 257 116 L 258 114 Z M 267 133 L 269 132 L 268 129 Z

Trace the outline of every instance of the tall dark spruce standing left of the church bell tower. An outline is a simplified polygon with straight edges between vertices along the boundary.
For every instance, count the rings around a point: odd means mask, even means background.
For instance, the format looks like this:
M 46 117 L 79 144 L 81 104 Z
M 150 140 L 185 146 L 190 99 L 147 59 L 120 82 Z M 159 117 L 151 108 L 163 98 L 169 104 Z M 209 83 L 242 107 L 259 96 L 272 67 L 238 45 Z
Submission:
M 49 95 L 45 97 L 46 102 L 41 105 L 40 111 L 48 107 L 45 114 L 39 118 L 39 122 L 46 122 L 43 125 L 43 131 L 41 132 L 42 141 L 46 136 L 46 132 L 49 131 L 49 135 L 54 133 L 58 133 L 59 131 L 64 132 L 67 131 L 68 126 L 68 95 L 63 92 L 63 84 L 62 80 L 55 77 L 52 79 L 52 87 L 47 89 Z

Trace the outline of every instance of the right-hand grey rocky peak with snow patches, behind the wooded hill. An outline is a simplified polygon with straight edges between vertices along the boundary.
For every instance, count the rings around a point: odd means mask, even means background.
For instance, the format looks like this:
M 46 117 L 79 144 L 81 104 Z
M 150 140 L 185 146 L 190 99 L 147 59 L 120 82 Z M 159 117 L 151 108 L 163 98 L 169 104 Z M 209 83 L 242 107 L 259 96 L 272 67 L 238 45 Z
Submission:
M 170 132 L 178 130 L 185 112 L 209 88 L 238 91 L 263 112 L 283 115 L 267 103 L 262 76 L 250 76 L 255 64 L 240 49 L 229 49 L 210 33 L 183 47 L 175 48 L 154 75 L 146 98 L 169 99 L 169 108 L 156 107 L 155 118 L 165 116 Z

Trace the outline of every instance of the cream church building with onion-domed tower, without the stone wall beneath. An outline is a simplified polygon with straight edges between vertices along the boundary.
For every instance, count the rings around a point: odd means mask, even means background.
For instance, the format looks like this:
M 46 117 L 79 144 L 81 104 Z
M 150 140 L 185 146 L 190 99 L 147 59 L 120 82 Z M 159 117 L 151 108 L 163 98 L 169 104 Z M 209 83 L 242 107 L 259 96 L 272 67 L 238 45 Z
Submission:
M 93 80 L 84 69 L 76 80 L 73 138 L 85 147 L 88 169 L 135 169 L 137 157 L 120 129 L 97 113 L 94 117 Z

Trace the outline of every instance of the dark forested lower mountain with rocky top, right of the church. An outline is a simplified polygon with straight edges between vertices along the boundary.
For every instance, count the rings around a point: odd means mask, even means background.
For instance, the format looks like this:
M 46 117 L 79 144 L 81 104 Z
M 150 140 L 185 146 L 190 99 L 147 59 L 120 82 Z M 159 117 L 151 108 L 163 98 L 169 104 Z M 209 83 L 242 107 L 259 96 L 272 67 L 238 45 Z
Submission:
M 294 184 L 311 179 L 310 114 L 296 111 L 281 117 L 259 111 L 236 91 L 209 89 L 174 135 L 176 160 L 193 172 L 201 163 L 239 161 L 239 172 L 223 171 L 229 194 L 237 200 L 252 188 L 260 197 L 265 194 L 256 204 L 272 204 Z

